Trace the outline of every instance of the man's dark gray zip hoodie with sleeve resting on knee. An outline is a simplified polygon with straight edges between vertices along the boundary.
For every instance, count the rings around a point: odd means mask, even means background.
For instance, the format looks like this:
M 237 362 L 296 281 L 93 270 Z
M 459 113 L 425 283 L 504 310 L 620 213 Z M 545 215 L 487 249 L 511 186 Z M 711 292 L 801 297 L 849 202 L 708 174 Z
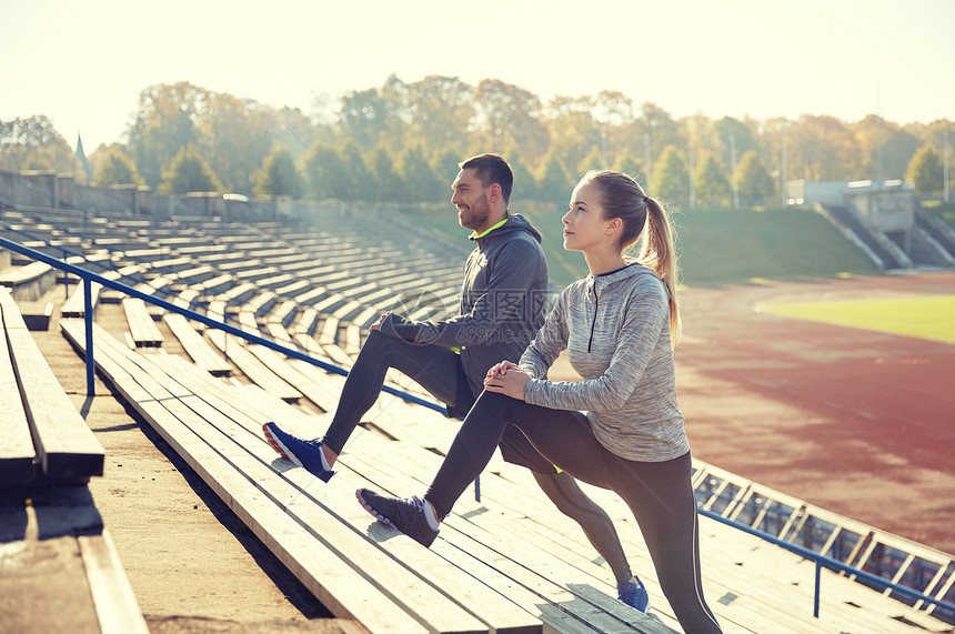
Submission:
M 471 240 L 475 248 L 464 265 L 458 315 L 428 322 L 391 314 L 381 332 L 415 343 L 460 348 L 471 389 L 480 394 L 487 370 L 504 360 L 516 363 L 544 323 L 547 261 L 541 234 L 520 214 Z

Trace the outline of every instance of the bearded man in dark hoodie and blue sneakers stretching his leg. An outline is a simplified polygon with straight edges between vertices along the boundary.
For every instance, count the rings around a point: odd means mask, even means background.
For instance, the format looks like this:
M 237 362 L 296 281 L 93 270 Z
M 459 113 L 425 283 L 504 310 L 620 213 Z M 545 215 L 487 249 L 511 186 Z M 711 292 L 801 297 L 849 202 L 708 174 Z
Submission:
M 496 154 L 479 154 L 459 168 L 451 203 L 475 242 L 464 265 L 459 314 L 439 322 L 381 315 L 370 326 L 322 441 L 298 439 L 275 423 L 264 425 L 275 451 L 324 482 L 334 475 L 332 466 L 361 416 L 378 400 L 390 368 L 445 403 L 450 416 L 463 417 L 481 394 L 491 366 L 503 360 L 516 363 L 544 322 L 547 263 L 537 230 L 510 213 L 511 167 Z M 516 427 L 509 426 L 500 447 L 505 461 L 530 469 L 557 509 L 581 525 L 613 570 L 620 598 L 645 611 L 646 592 L 631 576 L 606 513 Z

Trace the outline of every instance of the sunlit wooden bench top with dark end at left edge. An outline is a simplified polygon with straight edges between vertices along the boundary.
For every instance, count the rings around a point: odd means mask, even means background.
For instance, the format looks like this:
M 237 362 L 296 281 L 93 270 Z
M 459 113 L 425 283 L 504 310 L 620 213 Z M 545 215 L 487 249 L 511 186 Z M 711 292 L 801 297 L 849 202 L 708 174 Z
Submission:
M 102 475 L 104 452 L 0 289 L 0 481 L 87 482 Z

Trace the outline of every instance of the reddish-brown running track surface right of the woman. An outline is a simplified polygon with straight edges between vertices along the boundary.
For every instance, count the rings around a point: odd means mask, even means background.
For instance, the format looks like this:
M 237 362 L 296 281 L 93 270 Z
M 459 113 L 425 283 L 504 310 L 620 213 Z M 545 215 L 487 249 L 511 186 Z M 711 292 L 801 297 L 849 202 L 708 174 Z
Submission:
M 955 344 L 757 311 L 953 294 L 955 272 L 685 290 L 676 365 L 693 454 L 955 553 Z

